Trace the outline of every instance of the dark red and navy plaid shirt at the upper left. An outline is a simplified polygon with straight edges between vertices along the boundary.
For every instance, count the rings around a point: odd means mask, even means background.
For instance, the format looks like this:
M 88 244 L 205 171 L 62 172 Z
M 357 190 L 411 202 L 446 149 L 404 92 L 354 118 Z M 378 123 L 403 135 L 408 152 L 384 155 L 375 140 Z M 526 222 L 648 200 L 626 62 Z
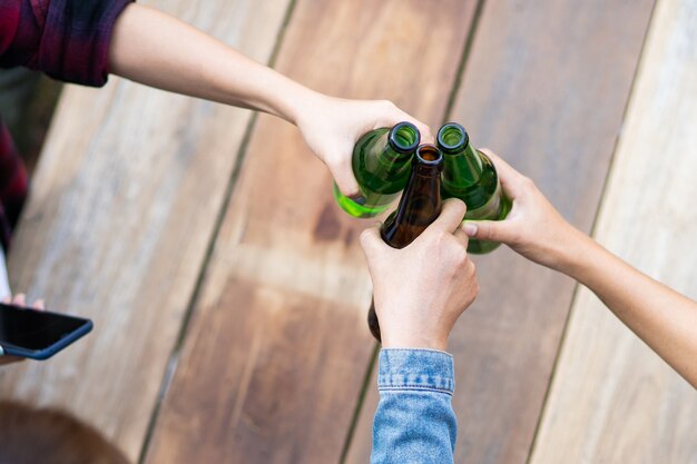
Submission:
M 68 82 L 104 86 L 114 23 L 130 1 L 0 0 L 0 67 L 23 66 Z M 6 249 L 27 188 L 27 172 L 0 120 L 0 240 Z

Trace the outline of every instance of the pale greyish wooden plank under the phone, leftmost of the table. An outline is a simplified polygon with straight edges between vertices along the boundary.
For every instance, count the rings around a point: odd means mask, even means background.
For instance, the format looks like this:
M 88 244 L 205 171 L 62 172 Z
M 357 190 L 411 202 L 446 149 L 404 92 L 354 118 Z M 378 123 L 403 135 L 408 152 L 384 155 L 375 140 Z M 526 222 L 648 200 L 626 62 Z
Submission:
M 288 0 L 151 3 L 265 61 Z M 65 90 L 9 267 L 96 329 L 3 368 L 0 397 L 67 408 L 138 456 L 249 118 L 120 79 Z

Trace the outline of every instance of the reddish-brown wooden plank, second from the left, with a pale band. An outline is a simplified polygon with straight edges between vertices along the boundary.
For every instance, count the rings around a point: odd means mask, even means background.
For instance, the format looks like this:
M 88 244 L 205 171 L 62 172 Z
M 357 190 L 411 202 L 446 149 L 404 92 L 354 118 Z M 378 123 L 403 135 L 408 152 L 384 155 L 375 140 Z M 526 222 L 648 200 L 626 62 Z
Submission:
M 474 3 L 302 0 L 278 69 L 333 95 L 448 103 Z M 148 463 L 338 462 L 374 343 L 370 278 L 326 169 L 259 120 Z

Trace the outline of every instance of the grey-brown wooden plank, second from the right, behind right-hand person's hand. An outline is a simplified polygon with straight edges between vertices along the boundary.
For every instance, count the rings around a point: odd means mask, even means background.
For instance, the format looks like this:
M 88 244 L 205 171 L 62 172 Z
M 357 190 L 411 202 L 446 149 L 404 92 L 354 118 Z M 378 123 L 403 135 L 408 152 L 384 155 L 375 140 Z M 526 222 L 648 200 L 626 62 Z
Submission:
M 590 230 L 620 130 L 650 0 L 490 1 L 451 119 Z M 618 21 L 621 18 L 621 21 Z M 524 463 L 573 283 L 500 248 L 475 257 L 481 292 L 455 326 L 457 462 Z M 366 462 L 371 384 L 348 463 Z

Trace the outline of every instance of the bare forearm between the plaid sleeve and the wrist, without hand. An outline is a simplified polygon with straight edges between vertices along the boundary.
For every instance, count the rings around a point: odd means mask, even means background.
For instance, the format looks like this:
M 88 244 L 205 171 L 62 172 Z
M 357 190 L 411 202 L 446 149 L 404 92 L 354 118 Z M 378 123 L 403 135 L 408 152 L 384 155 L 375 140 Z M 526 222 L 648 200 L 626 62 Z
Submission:
M 166 13 L 131 4 L 116 22 L 110 71 L 164 90 L 265 111 L 295 124 L 306 87 Z

